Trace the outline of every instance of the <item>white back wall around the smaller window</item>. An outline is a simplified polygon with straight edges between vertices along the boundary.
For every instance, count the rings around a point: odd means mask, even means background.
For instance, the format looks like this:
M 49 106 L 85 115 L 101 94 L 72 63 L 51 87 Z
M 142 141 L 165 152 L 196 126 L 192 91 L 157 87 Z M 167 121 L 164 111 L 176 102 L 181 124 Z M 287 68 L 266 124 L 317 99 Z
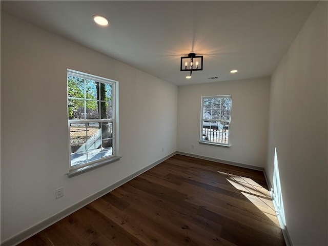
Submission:
M 269 89 L 270 78 L 180 86 L 177 150 L 264 168 Z M 230 148 L 200 145 L 197 142 L 200 135 L 201 96 L 212 95 L 232 95 Z

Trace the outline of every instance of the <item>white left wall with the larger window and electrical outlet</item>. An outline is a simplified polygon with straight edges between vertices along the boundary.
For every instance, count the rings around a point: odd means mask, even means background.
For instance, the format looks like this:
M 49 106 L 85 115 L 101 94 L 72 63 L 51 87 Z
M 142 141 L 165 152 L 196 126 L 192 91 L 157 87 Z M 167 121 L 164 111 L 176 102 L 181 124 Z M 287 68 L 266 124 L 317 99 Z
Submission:
M 67 68 L 119 81 L 122 158 L 72 178 Z M 1 241 L 175 152 L 176 117 L 176 86 L 1 13 Z

